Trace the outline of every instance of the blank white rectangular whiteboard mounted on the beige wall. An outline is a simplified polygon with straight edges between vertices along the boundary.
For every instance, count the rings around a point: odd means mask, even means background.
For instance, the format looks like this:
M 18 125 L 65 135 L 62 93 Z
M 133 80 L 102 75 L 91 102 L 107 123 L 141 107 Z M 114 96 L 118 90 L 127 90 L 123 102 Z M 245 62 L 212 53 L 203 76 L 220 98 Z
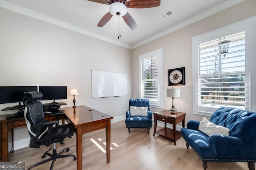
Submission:
M 127 74 L 92 70 L 92 98 L 126 95 Z

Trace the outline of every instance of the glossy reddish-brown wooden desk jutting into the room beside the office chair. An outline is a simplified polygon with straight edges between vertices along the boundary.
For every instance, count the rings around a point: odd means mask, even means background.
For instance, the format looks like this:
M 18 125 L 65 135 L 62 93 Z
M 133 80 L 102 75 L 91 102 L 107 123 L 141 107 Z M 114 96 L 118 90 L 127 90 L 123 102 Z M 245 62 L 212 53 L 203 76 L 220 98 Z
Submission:
M 71 125 L 74 132 L 76 132 L 76 168 L 82 170 L 82 135 L 102 128 L 106 128 L 106 157 L 109 163 L 110 119 L 113 119 L 113 117 L 86 106 L 78 106 L 76 108 L 66 107 L 62 109 L 64 109 L 66 121 Z

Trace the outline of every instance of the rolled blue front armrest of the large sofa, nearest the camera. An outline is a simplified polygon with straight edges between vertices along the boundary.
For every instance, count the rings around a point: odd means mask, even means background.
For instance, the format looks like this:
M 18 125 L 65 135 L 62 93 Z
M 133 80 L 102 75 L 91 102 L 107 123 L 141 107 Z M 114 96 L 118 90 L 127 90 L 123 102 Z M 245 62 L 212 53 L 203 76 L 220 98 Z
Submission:
M 244 142 L 242 142 L 242 140 L 238 137 L 226 136 L 222 134 L 213 134 L 209 137 L 208 142 L 213 154 L 215 155 L 222 154 L 218 153 L 217 150 L 222 150 L 223 152 L 225 152 L 223 154 L 226 154 L 226 151 L 229 150 L 228 148 L 241 148 L 244 144 Z

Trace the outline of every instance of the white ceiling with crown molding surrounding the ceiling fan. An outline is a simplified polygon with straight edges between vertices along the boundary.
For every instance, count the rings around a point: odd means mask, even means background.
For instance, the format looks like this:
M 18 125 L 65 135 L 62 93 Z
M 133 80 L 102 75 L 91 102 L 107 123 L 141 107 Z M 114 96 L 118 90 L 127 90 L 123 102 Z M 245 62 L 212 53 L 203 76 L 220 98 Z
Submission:
M 121 18 L 120 39 L 117 17 L 112 17 L 104 27 L 97 26 L 108 12 L 109 5 L 106 4 L 88 0 L 0 0 L 0 7 L 123 47 L 134 48 L 242 1 L 161 0 L 160 6 L 154 8 L 128 8 L 138 28 L 131 30 Z M 156 20 L 156 17 L 168 10 L 173 14 L 160 22 Z

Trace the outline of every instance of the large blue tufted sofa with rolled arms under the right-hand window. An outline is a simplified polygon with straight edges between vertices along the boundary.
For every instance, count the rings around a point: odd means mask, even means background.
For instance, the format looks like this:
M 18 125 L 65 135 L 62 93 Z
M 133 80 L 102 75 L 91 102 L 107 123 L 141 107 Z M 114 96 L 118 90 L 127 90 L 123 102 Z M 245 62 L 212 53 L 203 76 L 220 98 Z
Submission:
M 248 162 L 249 170 L 254 170 L 256 161 L 256 113 L 220 107 L 210 117 L 210 122 L 229 128 L 229 135 L 208 136 L 198 127 L 200 121 L 191 120 L 187 128 L 181 128 L 186 146 L 191 146 L 203 161 L 207 162 Z

